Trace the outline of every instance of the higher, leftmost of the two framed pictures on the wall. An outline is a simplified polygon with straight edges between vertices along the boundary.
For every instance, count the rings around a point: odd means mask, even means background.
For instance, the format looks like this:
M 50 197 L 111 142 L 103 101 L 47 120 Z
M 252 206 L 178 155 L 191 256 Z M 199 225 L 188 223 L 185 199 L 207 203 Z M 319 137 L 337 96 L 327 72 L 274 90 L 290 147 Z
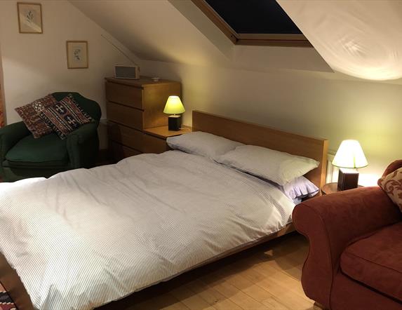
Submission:
M 20 34 L 42 34 L 42 6 L 32 2 L 17 2 Z

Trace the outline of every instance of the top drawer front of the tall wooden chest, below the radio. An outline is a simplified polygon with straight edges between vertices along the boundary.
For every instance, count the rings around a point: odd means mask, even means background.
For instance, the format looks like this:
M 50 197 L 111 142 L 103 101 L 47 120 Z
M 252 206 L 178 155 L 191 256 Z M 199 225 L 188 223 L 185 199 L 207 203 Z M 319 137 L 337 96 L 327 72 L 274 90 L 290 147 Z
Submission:
M 106 82 L 106 98 L 109 101 L 142 109 L 142 88 Z

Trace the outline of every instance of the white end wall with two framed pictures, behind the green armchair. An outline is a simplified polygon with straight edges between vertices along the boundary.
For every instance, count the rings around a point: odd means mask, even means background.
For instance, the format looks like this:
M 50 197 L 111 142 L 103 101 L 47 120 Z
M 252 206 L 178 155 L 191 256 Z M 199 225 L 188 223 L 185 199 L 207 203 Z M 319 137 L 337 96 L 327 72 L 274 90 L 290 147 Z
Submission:
M 97 101 L 105 117 L 103 79 L 113 75 L 114 65 L 130 64 L 101 34 L 114 39 L 68 1 L 41 1 L 43 34 L 20 34 L 16 2 L 0 1 L 7 122 L 20 121 L 15 107 L 54 91 L 76 91 Z M 67 40 L 88 41 L 89 69 L 67 69 Z

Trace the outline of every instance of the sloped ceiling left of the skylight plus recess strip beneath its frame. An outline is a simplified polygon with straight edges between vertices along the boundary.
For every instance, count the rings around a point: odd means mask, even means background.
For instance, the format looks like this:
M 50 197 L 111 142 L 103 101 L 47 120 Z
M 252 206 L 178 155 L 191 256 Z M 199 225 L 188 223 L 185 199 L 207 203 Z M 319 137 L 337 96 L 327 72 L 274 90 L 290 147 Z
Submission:
M 234 46 L 189 0 L 70 2 L 143 60 L 332 72 L 314 48 Z

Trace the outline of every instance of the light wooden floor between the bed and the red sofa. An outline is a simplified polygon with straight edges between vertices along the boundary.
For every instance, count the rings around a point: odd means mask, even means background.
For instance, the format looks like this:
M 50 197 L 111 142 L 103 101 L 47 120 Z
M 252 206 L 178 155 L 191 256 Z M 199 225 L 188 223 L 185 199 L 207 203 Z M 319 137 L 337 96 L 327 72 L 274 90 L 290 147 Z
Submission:
M 293 233 L 135 293 L 116 309 L 313 309 L 300 284 L 307 252 Z

